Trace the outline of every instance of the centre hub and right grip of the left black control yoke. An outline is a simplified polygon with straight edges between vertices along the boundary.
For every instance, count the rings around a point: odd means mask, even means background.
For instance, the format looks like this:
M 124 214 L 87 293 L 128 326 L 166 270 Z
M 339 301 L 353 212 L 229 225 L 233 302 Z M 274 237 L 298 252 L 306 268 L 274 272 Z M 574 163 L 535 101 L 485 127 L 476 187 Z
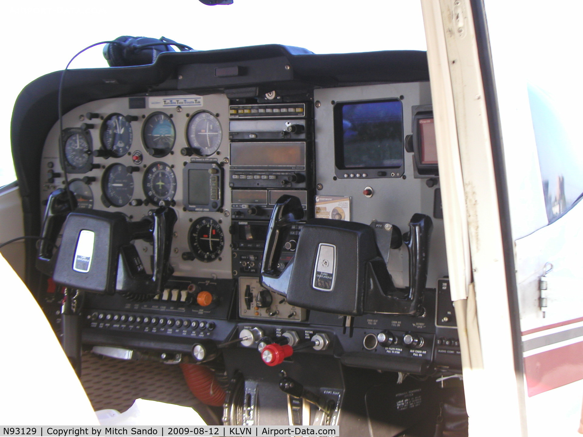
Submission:
M 65 287 L 103 294 L 161 291 L 168 265 L 176 213 L 169 207 L 129 222 L 123 214 L 76 210 L 63 227 L 53 279 Z M 153 274 L 146 274 L 134 239 L 153 241 Z

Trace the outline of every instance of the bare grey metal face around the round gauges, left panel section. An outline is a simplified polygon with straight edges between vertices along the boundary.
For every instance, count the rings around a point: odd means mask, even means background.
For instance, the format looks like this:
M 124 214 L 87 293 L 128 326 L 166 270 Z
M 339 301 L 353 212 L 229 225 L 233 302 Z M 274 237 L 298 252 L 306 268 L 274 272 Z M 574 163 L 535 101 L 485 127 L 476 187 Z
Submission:
M 80 128 L 83 123 L 93 125 L 93 128 L 86 131 L 89 132 L 86 135 L 92 139 L 93 150 L 108 149 L 113 151 L 107 157 L 93 157 L 93 167 L 99 165 L 99 168 L 94 168 L 85 174 L 68 174 L 69 181 L 76 181 L 72 188 L 79 191 L 76 193 L 76 197 L 82 200 L 80 206 L 92 206 L 93 209 L 97 210 L 121 212 L 131 217 L 131 220 L 137 221 L 157 206 L 153 203 L 132 206 L 133 200 L 138 199 L 143 202 L 150 198 L 150 202 L 152 202 L 152 198 L 155 200 L 172 198 L 175 202 L 174 210 L 178 215 L 177 224 L 174 226 L 173 250 L 170 256 L 170 263 L 175 270 L 174 274 L 176 276 L 230 279 L 232 277 L 231 236 L 229 234 L 230 203 L 225 202 L 223 210 L 220 212 L 184 211 L 182 173 L 184 163 L 190 163 L 192 158 L 204 158 L 221 163 L 224 178 L 229 177 L 229 164 L 223 163 L 224 158 L 227 158 L 228 161 L 229 157 L 227 135 L 223 135 L 220 141 L 215 140 L 212 143 L 213 147 L 205 150 L 205 156 L 199 156 L 196 153 L 193 153 L 192 156 L 182 156 L 180 153 L 183 147 L 189 147 L 188 122 L 199 112 L 209 118 L 212 114 L 212 120 L 216 119 L 222 129 L 225 132 L 228 131 L 229 100 L 224 94 L 210 94 L 202 97 L 159 96 L 145 97 L 145 106 L 146 108 L 143 109 L 130 109 L 128 97 L 109 98 L 81 105 L 64 115 L 64 128 Z M 87 112 L 93 113 L 92 119 L 87 119 Z M 94 114 L 99 114 L 99 117 L 95 118 Z M 127 115 L 131 116 L 129 122 L 125 121 Z M 157 123 L 152 124 L 154 118 L 157 119 Z M 168 120 L 171 121 L 171 124 Z M 145 129 L 146 122 L 150 122 L 152 126 L 146 126 Z M 132 135 L 127 132 L 128 125 L 131 127 Z M 171 125 L 174 127 L 174 132 Z M 201 135 L 200 131 L 206 127 L 206 125 L 201 126 L 198 126 L 199 136 Z M 217 130 L 217 126 L 213 126 L 213 128 L 215 131 Z M 45 140 L 41 161 L 41 201 L 47 199 L 48 195 L 55 189 L 64 186 L 64 171 L 59 163 L 58 138 L 57 123 Z M 145 141 L 147 141 L 147 145 Z M 131 145 L 128 147 L 129 142 Z M 172 142 L 173 145 L 170 144 Z M 128 166 L 132 167 L 132 172 L 123 174 L 121 169 Z M 151 166 L 155 168 L 150 168 Z M 109 171 L 110 169 L 114 171 Z M 50 170 L 52 175 L 59 176 L 53 177 L 52 182 L 49 181 Z M 146 170 L 150 170 L 147 175 L 149 179 L 144 181 Z M 83 177 L 90 178 L 88 183 L 82 182 Z M 104 178 L 111 180 L 104 181 Z M 152 193 L 145 192 L 145 189 L 152 191 Z M 228 189 L 227 186 L 226 190 Z M 93 200 L 92 205 L 89 201 L 90 196 Z M 230 193 L 224 198 L 230 200 Z M 220 225 L 224 237 L 222 252 L 220 255 L 216 255 L 216 252 L 213 253 L 216 256 L 212 262 L 203 262 L 197 258 L 184 260 L 182 253 L 191 251 L 189 246 L 191 225 L 202 217 L 209 217 Z M 142 256 L 146 269 L 149 269 L 152 245 L 136 241 L 136 248 Z

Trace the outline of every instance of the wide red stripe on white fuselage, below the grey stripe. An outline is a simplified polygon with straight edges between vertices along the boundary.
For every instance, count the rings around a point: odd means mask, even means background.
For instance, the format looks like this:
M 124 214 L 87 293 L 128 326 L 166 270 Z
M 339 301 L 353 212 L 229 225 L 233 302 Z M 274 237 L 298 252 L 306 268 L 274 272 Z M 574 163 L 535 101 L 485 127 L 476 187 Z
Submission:
M 528 396 L 583 379 L 583 341 L 524 358 Z

